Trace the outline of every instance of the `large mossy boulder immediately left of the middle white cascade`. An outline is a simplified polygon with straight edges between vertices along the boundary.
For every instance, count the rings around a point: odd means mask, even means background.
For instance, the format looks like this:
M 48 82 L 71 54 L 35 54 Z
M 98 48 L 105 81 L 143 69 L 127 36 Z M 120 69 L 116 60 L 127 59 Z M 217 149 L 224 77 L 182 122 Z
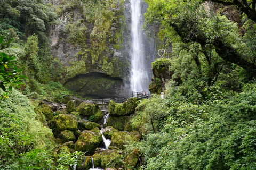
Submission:
M 103 141 L 99 128 L 84 130 L 75 143 L 75 151 L 93 153 Z

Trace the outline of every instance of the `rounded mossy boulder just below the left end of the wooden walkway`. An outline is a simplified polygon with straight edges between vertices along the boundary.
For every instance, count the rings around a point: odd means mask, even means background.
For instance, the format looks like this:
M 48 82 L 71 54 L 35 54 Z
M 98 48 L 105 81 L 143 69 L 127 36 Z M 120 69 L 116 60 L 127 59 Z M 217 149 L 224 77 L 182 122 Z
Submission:
M 81 103 L 76 110 L 84 116 L 91 116 L 98 112 L 99 107 L 92 103 L 87 103 L 86 101 Z

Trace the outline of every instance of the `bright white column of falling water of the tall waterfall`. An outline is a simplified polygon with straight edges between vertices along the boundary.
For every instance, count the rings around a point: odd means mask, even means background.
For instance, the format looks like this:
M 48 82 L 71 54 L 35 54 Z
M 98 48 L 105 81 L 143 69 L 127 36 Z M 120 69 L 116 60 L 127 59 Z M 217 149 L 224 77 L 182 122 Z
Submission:
M 132 91 L 145 91 L 148 89 L 149 80 L 147 71 L 144 69 L 144 56 L 141 23 L 141 0 L 131 0 L 132 10 L 132 50 L 131 50 L 131 89 Z

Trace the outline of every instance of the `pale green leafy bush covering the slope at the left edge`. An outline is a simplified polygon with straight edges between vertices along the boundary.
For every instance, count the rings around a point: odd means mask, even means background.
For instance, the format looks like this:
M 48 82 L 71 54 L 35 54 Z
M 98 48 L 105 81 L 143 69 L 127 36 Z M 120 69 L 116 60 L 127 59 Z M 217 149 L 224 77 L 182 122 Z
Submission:
M 2 93 L 3 91 L 0 90 L 0 92 Z M 55 138 L 51 129 L 44 126 L 44 124 L 37 119 L 37 114 L 35 113 L 34 106 L 30 99 L 19 91 L 13 89 L 12 94 L 0 102 L 0 109 L 21 121 L 21 124 L 17 126 L 15 131 L 30 135 L 34 140 L 35 148 L 44 148 L 47 146 L 52 149 L 54 147 Z M 1 116 L 1 126 L 10 128 L 7 123 L 4 116 Z

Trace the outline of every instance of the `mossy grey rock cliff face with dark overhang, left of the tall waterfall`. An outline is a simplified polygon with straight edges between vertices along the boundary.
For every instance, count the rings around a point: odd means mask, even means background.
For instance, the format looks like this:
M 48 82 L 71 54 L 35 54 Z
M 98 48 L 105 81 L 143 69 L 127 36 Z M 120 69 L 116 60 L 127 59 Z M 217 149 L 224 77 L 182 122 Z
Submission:
M 129 94 L 125 81 L 130 74 L 130 2 L 45 2 L 51 3 L 60 15 L 52 25 L 50 39 L 52 55 L 65 67 L 61 83 L 83 97 Z M 106 83 L 108 89 L 100 88 Z

